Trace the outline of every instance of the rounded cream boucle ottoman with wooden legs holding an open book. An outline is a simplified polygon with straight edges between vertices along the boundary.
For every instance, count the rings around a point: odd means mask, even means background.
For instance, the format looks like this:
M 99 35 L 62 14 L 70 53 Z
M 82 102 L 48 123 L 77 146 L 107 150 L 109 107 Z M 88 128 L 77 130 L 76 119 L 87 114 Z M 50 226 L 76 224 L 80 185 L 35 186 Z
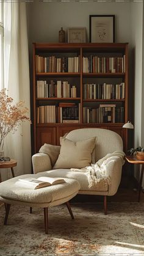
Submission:
M 70 203 L 68 202 L 80 189 L 77 180 L 65 178 L 65 183 L 48 186 L 40 189 L 29 189 L 18 185 L 16 181 L 19 178 L 34 177 L 38 178 L 40 175 L 21 175 L 10 180 L 0 183 L 0 200 L 5 203 L 5 220 L 9 216 L 10 205 L 26 205 L 29 207 L 43 208 L 45 220 L 45 232 L 48 233 L 48 208 L 67 203 L 68 211 L 71 218 L 74 219 L 71 211 Z

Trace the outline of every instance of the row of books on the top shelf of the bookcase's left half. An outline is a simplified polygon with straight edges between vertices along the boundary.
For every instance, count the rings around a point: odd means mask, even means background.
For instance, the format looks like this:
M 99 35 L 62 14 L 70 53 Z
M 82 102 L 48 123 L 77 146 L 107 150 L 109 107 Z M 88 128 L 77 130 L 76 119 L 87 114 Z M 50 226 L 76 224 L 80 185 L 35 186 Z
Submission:
M 78 73 L 80 71 L 80 56 L 78 57 L 43 57 L 35 55 L 36 73 Z

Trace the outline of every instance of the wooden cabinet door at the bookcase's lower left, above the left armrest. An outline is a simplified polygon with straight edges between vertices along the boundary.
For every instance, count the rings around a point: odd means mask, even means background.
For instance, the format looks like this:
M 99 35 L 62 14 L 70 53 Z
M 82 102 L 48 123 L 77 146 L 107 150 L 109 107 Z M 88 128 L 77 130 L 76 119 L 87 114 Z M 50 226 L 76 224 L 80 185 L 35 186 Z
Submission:
M 56 127 L 37 127 L 37 152 L 45 143 L 56 145 Z

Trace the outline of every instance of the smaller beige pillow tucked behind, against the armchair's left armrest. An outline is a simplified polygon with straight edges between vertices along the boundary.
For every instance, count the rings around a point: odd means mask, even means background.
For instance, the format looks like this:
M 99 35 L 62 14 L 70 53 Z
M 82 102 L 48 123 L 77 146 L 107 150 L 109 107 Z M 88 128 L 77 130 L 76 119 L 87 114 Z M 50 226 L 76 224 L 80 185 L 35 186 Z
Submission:
M 51 166 L 54 166 L 60 153 L 60 146 L 55 146 L 55 145 L 45 143 L 40 148 L 39 152 L 49 155 L 49 158 L 51 160 Z

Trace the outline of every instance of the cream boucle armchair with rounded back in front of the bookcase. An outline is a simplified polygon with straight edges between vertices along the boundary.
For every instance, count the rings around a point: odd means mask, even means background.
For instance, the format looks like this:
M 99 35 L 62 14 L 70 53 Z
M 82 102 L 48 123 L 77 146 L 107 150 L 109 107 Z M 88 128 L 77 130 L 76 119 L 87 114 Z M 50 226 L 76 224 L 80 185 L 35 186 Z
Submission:
M 123 141 L 121 137 L 110 130 L 100 128 L 84 128 L 70 131 L 66 138 L 77 142 L 85 139 L 97 137 L 95 145 L 95 162 L 115 151 L 123 151 Z M 32 156 L 34 173 L 43 172 L 48 177 L 74 178 L 79 181 L 81 189 L 78 194 L 101 195 L 104 196 L 104 213 L 107 214 L 107 196 L 113 196 L 120 185 L 122 165 L 119 158 L 113 161 L 112 169 L 109 170 L 109 183 L 101 180 L 96 184 L 95 190 L 88 188 L 88 178 L 85 172 L 73 172 L 70 169 L 52 169 L 51 159 L 46 153 L 37 153 Z

